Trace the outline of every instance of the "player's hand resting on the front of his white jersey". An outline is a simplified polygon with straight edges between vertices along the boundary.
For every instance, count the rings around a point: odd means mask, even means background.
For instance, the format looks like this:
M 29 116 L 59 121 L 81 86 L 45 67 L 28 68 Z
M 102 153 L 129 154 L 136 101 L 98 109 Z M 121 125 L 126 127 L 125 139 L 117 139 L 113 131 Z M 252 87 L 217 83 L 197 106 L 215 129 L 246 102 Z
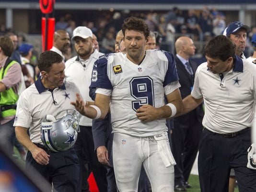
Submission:
M 152 105 L 142 105 L 137 109 L 137 117 L 143 122 L 154 121 L 158 119 L 158 108 L 153 107 Z

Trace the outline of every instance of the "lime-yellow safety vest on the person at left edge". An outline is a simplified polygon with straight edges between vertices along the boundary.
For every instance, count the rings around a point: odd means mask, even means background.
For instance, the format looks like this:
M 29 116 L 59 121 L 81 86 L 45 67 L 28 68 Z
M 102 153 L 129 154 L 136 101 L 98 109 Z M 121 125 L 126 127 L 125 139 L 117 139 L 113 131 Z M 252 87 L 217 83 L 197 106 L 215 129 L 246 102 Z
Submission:
M 17 63 L 10 58 L 7 59 L 5 65 L 0 69 L 0 80 L 6 75 L 8 69 Z M 8 117 L 15 115 L 16 107 L 15 103 L 18 101 L 19 95 L 15 93 L 13 88 L 0 92 L 0 113 L 2 117 Z

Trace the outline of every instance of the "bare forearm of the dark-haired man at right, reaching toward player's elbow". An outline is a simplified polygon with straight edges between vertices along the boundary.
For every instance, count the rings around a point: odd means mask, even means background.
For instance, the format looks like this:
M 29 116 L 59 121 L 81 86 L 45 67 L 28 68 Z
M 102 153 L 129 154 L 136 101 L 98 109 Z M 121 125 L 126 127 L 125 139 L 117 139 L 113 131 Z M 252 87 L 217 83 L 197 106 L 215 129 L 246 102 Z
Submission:
M 183 102 L 182 112 L 177 113 L 174 117 L 184 115 L 184 114 L 186 114 L 188 112 L 191 112 L 194 109 L 196 109 L 203 102 L 203 97 L 200 98 L 200 99 L 196 99 L 192 95 L 188 95 L 188 96 L 186 96 L 186 98 L 184 98 L 182 100 L 182 102 Z

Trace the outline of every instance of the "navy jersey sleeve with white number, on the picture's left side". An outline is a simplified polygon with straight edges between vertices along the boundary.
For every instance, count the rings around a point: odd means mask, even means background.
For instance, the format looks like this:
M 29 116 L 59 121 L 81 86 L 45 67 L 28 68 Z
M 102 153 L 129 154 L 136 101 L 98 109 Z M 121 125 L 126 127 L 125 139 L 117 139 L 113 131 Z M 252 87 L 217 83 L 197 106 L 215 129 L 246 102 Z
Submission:
M 90 88 L 113 89 L 107 76 L 107 58 L 107 56 L 103 56 L 94 62 Z

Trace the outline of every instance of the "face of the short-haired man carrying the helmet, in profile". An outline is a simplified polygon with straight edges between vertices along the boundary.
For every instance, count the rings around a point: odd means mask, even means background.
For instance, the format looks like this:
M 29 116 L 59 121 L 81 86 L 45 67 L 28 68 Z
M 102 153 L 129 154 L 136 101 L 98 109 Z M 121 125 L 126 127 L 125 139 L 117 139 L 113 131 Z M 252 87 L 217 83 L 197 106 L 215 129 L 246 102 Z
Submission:
M 50 71 L 46 75 L 44 75 L 44 78 L 47 81 L 47 85 L 49 89 L 55 89 L 59 86 L 62 86 L 65 79 L 65 64 L 63 62 L 61 63 L 55 63 L 50 68 Z

